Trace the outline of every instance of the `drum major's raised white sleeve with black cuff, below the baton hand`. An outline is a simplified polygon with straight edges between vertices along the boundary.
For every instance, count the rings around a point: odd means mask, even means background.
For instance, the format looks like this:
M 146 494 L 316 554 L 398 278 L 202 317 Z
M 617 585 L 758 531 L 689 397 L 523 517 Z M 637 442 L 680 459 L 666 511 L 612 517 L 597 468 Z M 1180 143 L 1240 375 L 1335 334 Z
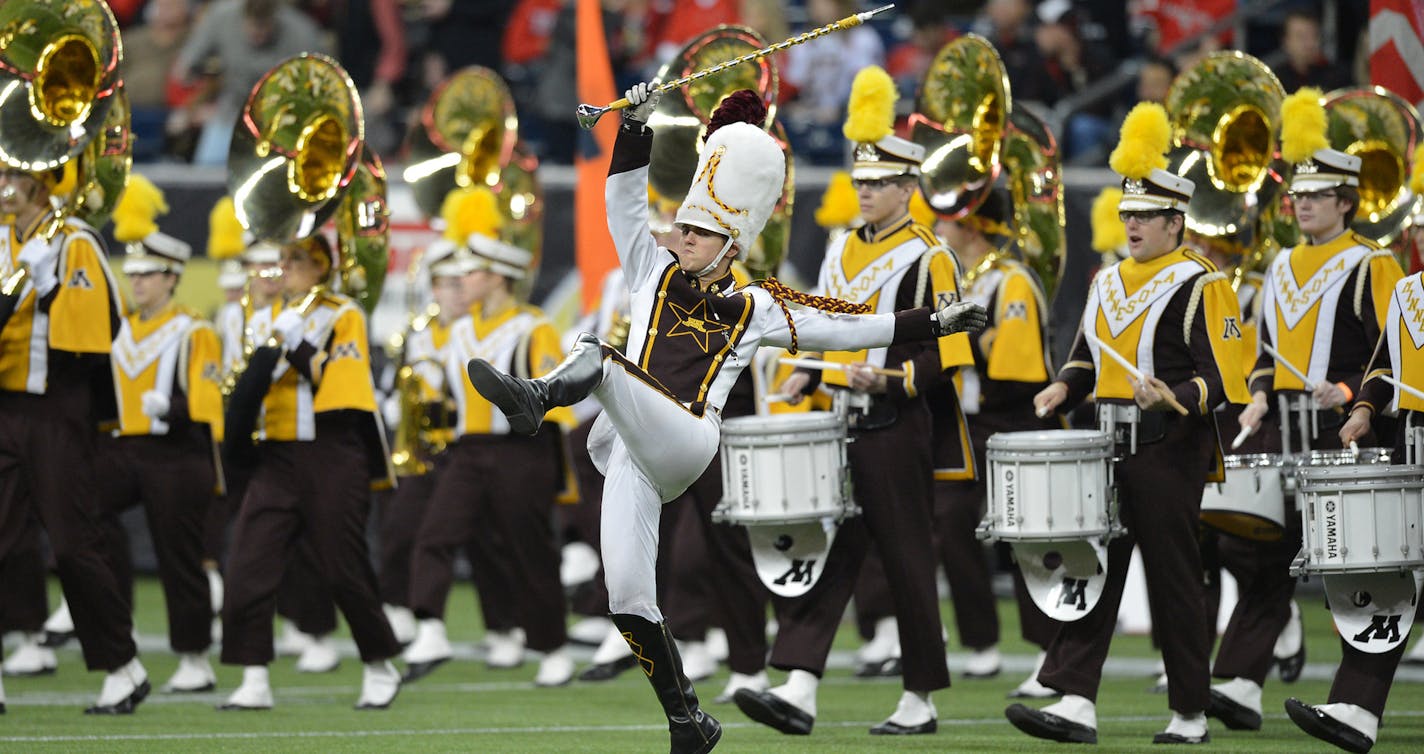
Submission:
M 652 271 L 672 261 L 658 251 L 648 231 L 648 162 L 652 154 L 652 131 L 641 133 L 618 128 L 614 154 L 608 162 L 608 182 L 604 202 L 608 207 L 608 232 L 618 249 L 618 262 L 631 291 L 641 288 Z

